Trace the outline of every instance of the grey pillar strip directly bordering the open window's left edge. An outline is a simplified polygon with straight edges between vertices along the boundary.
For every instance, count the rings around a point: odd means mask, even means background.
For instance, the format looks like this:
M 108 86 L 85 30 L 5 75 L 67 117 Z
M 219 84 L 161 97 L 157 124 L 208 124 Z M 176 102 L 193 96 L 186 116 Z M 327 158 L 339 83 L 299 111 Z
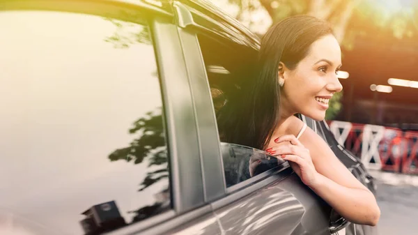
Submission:
M 175 8 L 183 8 L 178 14 L 187 12 L 181 3 L 174 3 Z M 178 16 L 178 17 L 181 17 Z M 206 70 L 196 33 L 178 27 L 180 43 L 183 46 L 183 56 L 187 68 L 190 91 L 194 103 L 196 125 L 199 127 L 198 140 L 202 167 L 205 202 L 212 202 L 225 194 L 224 170 L 220 157 L 219 136 L 216 128 L 216 117 Z

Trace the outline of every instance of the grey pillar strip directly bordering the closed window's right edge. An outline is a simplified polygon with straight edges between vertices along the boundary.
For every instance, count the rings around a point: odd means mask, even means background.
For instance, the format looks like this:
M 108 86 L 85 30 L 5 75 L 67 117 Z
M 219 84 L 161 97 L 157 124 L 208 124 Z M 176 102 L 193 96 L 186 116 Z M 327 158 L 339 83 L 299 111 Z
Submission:
M 167 126 L 172 128 L 169 130 L 176 131 L 169 132 L 172 135 L 169 136 L 169 142 L 171 167 L 174 171 L 171 189 L 173 203 L 175 210 L 183 213 L 203 205 L 204 201 L 196 117 L 181 44 L 178 40 L 164 40 L 170 35 L 178 38 L 176 26 L 156 23 L 155 33 L 160 34 L 156 50 L 161 53 L 157 54 L 157 59 L 160 63 L 163 93 L 167 97 Z

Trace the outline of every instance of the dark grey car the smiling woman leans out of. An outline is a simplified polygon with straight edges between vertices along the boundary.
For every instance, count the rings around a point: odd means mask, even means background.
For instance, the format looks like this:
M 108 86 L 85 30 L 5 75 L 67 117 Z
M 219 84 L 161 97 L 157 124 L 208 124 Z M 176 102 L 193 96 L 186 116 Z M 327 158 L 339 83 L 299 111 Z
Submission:
M 334 234 L 288 162 L 220 142 L 259 41 L 206 1 L 0 0 L 0 234 Z M 300 116 L 357 179 L 325 122 Z

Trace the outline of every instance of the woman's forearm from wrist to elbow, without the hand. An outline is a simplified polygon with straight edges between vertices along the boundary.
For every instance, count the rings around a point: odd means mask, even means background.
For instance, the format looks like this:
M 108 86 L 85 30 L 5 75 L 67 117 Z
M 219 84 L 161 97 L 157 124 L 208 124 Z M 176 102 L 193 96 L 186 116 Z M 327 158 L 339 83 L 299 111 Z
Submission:
M 339 185 L 319 173 L 316 183 L 310 188 L 350 222 L 371 226 L 377 224 L 380 209 L 369 190 Z

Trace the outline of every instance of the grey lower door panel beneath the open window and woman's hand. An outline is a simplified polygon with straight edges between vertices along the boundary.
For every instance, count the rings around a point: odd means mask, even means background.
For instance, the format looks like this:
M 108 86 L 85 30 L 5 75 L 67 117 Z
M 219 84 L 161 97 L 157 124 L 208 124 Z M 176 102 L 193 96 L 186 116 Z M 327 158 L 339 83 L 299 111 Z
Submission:
M 269 185 L 215 210 L 226 234 L 330 234 L 330 207 L 288 170 L 270 176 L 274 181 Z

